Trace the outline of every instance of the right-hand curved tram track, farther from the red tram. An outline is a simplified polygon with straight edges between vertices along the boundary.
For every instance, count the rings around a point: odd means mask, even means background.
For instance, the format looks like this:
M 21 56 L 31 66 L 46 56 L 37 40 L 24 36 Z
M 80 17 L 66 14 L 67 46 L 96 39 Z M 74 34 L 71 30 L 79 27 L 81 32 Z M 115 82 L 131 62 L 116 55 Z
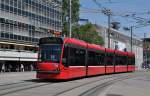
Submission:
M 77 96 L 93 96 L 91 95 L 93 92 L 95 92 L 95 90 L 98 90 L 99 88 L 104 88 L 104 87 L 107 87 L 117 81 L 121 81 L 121 80 L 125 80 L 125 79 L 128 79 L 128 78 L 131 78 L 133 76 L 111 76 L 111 77 L 107 77 L 107 78 L 102 78 L 102 79 L 98 79 L 98 80 L 94 80 L 94 81 L 90 81 L 90 82 L 87 82 L 87 83 L 84 83 L 84 84 L 81 84 L 81 85 L 78 85 L 78 86 L 75 86 L 75 87 L 72 87 L 70 89 L 67 89 L 67 90 L 63 90 L 59 93 L 56 93 L 55 95 L 53 96 L 69 96 L 68 94 L 69 93 L 73 93 L 74 90 L 78 89 L 78 88 L 81 88 L 81 87 L 84 87 L 84 86 L 88 86 L 88 85 L 91 85 L 93 83 L 98 83 L 98 82 L 102 82 L 106 79 L 110 79 L 110 80 L 107 80 L 107 81 L 104 81 L 103 83 L 100 83 L 84 92 L 81 92 L 80 94 L 78 94 Z M 82 89 L 82 88 L 81 88 Z M 80 89 L 78 89 L 80 90 Z M 90 92 L 90 93 L 89 93 Z M 89 95 L 90 94 L 90 95 Z M 76 96 L 76 95 L 75 95 Z

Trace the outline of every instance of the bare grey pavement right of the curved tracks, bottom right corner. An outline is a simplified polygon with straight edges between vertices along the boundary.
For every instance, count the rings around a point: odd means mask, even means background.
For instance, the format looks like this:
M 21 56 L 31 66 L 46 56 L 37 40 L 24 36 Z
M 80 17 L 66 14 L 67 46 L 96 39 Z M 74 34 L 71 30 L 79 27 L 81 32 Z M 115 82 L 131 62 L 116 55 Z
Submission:
M 150 72 L 111 85 L 99 96 L 150 96 Z

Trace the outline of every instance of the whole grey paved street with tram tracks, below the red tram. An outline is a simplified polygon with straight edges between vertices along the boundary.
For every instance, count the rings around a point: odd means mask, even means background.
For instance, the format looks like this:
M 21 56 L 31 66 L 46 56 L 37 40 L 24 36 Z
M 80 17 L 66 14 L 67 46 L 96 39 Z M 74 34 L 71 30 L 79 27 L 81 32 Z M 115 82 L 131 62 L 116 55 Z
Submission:
M 44 81 L 35 72 L 1 73 L 0 96 L 149 96 L 150 72 Z

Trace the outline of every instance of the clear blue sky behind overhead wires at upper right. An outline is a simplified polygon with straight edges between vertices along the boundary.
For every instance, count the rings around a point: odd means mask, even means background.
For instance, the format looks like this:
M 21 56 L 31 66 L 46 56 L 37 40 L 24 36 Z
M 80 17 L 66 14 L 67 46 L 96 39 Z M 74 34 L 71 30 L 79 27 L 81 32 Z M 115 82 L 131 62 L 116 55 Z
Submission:
M 108 17 L 101 12 L 95 12 L 95 10 L 109 8 L 114 14 L 111 16 L 111 22 L 120 22 L 119 30 L 128 35 L 129 31 L 124 31 L 123 27 L 139 26 L 150 21 L 150 0 L 97 0 L 97 2 L 99 6 L 94 0 L 80 0 L 80 18 L 89 19 L 93 24 L 107 27 Z M 150 25 L 134 27 L 133 33 L 137 38 L 143 38 L 144 33 L 147 38 L 150 38 Z

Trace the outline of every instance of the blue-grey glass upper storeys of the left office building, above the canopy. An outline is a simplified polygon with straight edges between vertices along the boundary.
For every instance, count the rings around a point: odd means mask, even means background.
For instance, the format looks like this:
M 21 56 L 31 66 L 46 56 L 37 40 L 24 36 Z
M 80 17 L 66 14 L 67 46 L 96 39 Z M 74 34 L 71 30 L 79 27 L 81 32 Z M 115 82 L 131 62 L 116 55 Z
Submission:
M 36 43 L 61 32 L 61 1 L 54 1 L 0 0 L 0 38 Z

